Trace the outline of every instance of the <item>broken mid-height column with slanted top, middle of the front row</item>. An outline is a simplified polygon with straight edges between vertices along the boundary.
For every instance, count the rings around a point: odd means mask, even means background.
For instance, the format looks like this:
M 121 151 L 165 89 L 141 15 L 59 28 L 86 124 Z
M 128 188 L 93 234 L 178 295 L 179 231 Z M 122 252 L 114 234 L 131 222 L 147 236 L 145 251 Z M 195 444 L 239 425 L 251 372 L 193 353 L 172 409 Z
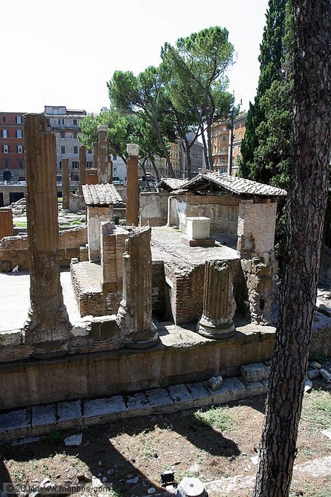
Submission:
M 117 323 L 129 348 L 155 345 L 159 336 L 152 322 L 151 228 L 138 228 L 126 240 L 123 255 L 123 299 Z

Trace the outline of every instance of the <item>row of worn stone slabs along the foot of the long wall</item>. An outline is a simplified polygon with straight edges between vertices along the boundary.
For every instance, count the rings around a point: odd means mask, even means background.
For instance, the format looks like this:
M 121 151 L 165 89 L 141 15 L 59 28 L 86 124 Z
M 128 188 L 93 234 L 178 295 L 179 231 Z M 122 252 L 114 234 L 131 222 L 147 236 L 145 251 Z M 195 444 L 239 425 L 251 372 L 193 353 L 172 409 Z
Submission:
M 221 388 L 213 391 L 205 382 L 153 388 L 133 395 L 113 395 L 94 400 L 74 400 L 26 407 L 0 414 L 0 440 L 15 439 L 48 433 L 52 429 L 69 429 L 80 426 L 106 423 L 119 418 L 149 414 L 166 414 L 194 409 L 229 401 L 245 399 L 251 395 L 266 393 L 267 368 L 261 363 L 251 364 L 252 383 L 239 378 L 227 378 Z M 261 371 L 262 370 L 262 371 Z M 260 372 L 260 375 L 259 375 Z

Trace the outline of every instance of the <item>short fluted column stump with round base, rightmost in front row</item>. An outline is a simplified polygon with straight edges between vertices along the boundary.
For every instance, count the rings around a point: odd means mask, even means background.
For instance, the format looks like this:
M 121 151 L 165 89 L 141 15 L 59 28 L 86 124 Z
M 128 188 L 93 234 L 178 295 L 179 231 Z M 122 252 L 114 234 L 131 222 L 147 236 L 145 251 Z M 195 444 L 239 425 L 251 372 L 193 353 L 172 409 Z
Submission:
M 236 302 L 233 296 L 229 261 L 207 260 L 203 293 L 203 314 L 197 331 L 207 338 L 224 338 L 236 332 L 233 317 Z

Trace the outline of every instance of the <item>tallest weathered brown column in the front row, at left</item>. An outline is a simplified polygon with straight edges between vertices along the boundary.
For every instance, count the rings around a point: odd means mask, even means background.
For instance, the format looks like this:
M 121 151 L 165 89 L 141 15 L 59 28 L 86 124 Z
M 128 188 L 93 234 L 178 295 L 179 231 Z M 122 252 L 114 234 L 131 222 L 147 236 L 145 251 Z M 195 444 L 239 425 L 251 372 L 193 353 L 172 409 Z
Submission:
M 24 331 L 26 343 L 39 344 L 36 357 L 38 349 L 41 356 L 67 353 L 70 329 L 60 284 L 55 134 L 46 129 L 45 116 L 23 116 L 30 267 Z

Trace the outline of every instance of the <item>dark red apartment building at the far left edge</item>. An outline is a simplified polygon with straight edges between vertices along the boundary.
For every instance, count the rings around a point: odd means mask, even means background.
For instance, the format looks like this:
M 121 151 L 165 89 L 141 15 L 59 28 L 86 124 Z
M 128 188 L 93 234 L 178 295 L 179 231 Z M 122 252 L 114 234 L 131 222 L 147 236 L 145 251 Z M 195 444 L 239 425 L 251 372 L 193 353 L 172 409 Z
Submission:
M 24 112 L 0 112 L 0 181 L 23 181 Z

